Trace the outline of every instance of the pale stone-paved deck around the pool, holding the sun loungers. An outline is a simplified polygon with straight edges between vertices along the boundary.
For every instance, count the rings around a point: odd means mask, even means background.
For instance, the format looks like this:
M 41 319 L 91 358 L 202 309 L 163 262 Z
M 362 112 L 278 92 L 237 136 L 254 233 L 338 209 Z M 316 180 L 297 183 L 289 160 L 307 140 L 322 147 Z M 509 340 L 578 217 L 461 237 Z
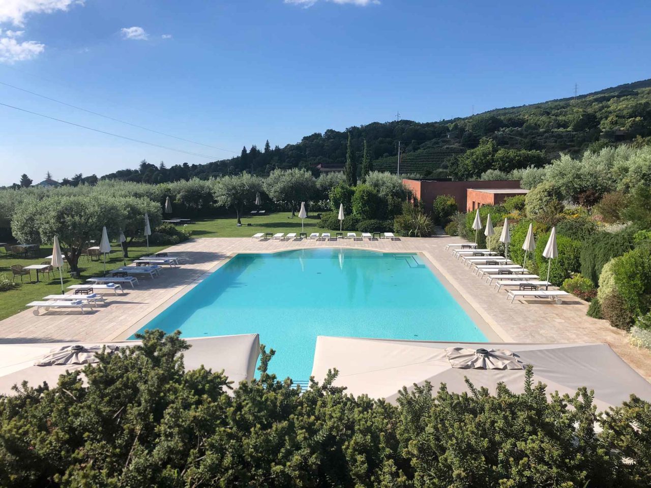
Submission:
M 165 269 L 158 278 L 140 278 L 139 286 L 125 286 L 123 295 L 105 294 L 106 305 L 94 312 L 49 312 L 35 316 L 25 310 L 0 321 L 0 343 L 21 342 L 107 342 L 128 337 L 170 301 L 178 299 L 191 286 L 201 282 L 208 272 L 227 262 L 238 252 L 275 252 L 289 249 L 356 248 L 381 252 L 420 252 L 440 277 L 464 297 L 503 342 L 605 342 L 638 373 L 651 381 L 651 353 L 628 344 L 624 331 L 607 321 L 585 315 L 587 303 L 570 297 L 562 305 L 551 301 L 509 303 L 506 291 L 497 291 L 476 277 L 456 260 L 445 246 L 460 243 L 458 237 L 438 236 L 428 239 L 402 237 L 352 241 L 255 241 L 240 237 L 192 239 L 169 248 L 189 261 L 176 269 Z M 463 305 L 463 304 L 462 304 Z

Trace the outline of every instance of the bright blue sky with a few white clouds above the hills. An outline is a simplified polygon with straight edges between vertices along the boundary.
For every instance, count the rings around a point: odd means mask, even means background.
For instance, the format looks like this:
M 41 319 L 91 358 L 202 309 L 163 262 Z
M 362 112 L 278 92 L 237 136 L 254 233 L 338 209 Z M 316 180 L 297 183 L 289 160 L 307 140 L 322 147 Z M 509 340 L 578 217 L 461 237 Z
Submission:
M 0 82 L 239 153 L 651 77 L 646 1 L 1 0 Z M 0 85 L 0 185 L 231 152 Z

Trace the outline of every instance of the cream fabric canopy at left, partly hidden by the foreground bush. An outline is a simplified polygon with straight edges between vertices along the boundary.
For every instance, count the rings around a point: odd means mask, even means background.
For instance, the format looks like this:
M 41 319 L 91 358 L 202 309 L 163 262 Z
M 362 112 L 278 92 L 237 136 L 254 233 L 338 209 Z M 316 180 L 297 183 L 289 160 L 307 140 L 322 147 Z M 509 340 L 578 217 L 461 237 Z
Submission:
M 205 338 L 189 338 L 186 340 L 191 347 L 183 351 L 186 370 L 195 370 L 203 365 L 213 372 L 224 371 L 232 386 L 240 381 L 250 380 L 255 374 L 255 364 L 260 352 L 258 334 L 243 334 L 237 336 L 215 336 Z M 30 386 L 42 385 L 44 381 L 52 388 L 57 385 L 59 375 L 67 371 L 81 370 L 86 364 L 66 364 L 65 366 L 35 366 L 53 349 L 62 346 L 81 345 L 86 347 L 101 344 L 115 344 L 119 347 L 129 347 L 141 344 L 140 341 L 118 342 L 55 342 L 49 344 L 0 344 L 0 395 L 12 395 L 12 386 L 26 380 Z

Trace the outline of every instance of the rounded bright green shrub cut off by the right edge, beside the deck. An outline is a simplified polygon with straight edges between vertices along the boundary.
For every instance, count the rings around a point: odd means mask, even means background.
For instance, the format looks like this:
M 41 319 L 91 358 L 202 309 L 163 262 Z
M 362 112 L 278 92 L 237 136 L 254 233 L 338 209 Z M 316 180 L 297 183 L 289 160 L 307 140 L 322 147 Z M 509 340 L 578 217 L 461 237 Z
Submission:
M 613 264 L 615 287 L 634 316 L 646 314 L 651 305 L 651 253 L 634 249 Z

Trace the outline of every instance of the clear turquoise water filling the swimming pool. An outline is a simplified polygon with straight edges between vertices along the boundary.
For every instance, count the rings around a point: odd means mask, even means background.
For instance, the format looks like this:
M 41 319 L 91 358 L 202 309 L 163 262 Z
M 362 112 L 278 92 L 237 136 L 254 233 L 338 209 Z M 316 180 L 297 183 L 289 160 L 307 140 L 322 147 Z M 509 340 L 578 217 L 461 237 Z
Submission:
M 270 370 L 307 380 L 316 336 L 482 342 L 486 336 L 417 254 L 310 249 L 238 254 L 143 329 L 260 334 Z

